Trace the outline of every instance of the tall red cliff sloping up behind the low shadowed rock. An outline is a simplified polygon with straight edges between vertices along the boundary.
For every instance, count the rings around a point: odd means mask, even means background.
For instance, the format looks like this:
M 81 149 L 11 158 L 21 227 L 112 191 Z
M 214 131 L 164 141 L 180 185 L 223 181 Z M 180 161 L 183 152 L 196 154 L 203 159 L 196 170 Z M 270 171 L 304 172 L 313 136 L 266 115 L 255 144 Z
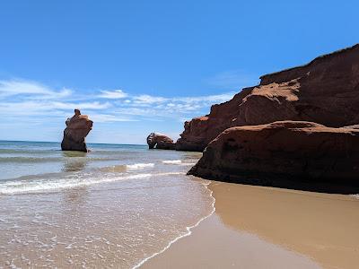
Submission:
M 253 126 L 278 120 L 305 120 L 325 126 L 359 123 L 359 44 L 308 65 L 260 77 L 232 100 L 211 108 L 206 117 L 185 123 L 176 149 L 203 151 L 232 126 Z

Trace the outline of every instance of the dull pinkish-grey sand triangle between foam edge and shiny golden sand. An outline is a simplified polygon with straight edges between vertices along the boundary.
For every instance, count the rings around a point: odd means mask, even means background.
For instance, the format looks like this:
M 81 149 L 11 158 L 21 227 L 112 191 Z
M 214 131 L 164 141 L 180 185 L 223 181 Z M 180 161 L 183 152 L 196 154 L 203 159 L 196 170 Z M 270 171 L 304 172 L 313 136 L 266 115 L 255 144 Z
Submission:
M 229 229 L 213 214 L 195 227 L 190 236 L 175 242 L 141 268 L 320 269 L 320 265 L 256 235 Z

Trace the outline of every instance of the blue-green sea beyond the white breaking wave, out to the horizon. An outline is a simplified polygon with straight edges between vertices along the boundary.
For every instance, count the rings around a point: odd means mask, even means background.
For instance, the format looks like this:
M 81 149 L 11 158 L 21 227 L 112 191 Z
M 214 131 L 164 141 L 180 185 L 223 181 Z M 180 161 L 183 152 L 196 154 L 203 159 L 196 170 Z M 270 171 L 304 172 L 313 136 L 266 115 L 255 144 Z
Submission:
M 92 152 L 62 152 L 60 143 L 0 141 L 0 180 L 44 173 L 76 172 L 144 161 L 146 145 L 89 144 Z M 171 152 L 164 156 L 175 157 Z M 157 157 L 156 157 L 157 156 Z

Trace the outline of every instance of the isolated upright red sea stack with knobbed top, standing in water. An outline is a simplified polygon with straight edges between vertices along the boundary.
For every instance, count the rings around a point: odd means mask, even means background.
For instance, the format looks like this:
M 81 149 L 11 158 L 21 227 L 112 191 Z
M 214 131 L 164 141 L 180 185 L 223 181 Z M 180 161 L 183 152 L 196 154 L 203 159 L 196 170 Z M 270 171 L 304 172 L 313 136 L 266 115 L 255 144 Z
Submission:
M 88 152 L 85 137 L 92 130 L 92 124 L 89 117 L 81 115 L 79 109 L 74 109 L 74 116 L 66 120 L 61 149 L 63 151 Z

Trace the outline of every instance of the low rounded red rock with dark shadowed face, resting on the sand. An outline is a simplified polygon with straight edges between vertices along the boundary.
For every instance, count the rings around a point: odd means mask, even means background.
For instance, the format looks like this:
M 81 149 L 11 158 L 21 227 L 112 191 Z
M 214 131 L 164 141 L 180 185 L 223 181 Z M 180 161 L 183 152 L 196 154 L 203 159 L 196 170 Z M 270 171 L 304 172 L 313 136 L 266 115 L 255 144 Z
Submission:
M 208 144 L 188 174 L 261 186 L 357 192 L 359 130 L 303 121 L 228 128 Z

